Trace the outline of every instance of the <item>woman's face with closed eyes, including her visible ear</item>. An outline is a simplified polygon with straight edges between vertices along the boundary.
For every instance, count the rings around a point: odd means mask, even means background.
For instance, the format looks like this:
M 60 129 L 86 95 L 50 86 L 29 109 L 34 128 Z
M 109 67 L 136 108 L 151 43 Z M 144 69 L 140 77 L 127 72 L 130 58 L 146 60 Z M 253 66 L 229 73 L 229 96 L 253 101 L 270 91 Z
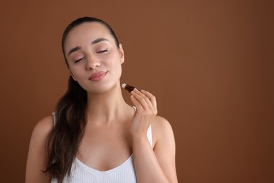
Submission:
M 107 28 L 100 23 L 82 23 L 65 39 L 70 73 L 87 92 L 102 93 L 119 84 L 124 63 L 122 45 L 117 48 Z

